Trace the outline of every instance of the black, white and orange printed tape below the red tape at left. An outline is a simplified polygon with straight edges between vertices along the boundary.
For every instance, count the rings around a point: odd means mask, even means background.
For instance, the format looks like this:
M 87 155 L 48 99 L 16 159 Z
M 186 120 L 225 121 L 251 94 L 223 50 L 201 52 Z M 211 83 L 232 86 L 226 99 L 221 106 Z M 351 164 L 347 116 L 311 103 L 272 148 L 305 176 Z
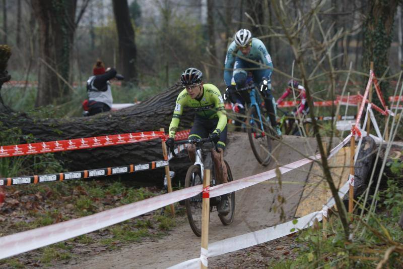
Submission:
M 112 176 L 126 173 L 133 173 L 145 170 L 152 170 L 160 167 L 165 167 L 168 165 L 167 160 L 157 160 L 155 162 L 150 162 L 147 164 L 139 165 L 127 165 L 119 167 L 108 167 L 92 170 L 83 170 L 75 172 L 64 172 L 58 174 L 48 174 L 48 175 L 34 175 L 34 176 L 23 176 L 14 178 L 0 178 L 0 186 L 11 186 L 20 184 L 36 184 L 42 182 L 50 181 L 65 181 L 65 180 L 78 180 L 85 178 L 95 178 L 103 176 Z

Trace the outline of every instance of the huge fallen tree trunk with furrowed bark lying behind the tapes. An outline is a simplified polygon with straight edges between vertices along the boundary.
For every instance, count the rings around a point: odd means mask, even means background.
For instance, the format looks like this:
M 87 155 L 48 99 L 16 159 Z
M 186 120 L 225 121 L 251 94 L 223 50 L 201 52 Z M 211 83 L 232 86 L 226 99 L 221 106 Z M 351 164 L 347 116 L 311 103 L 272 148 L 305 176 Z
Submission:
M 6 74 L 6 70 L 3 70 L 3 72 L 0 70 L 1 77 L 5 78 L 0 81 L 0 86 L 10 80 L 10 76 L 6 77 Z M 21 129 L 23 135 L 32 134 L 36 142 L 158 131 L 160 128 L 165 128 L 167 132 L 175 107 L 176 97 L 182 89 L 183 87 L 177 83 L 165 92 L 120 111 L 101 113 L 92 117 L 63 119 L 32 118 L 25 113 L 11 110 L 0 97 L 1 128 L 17 127 Z M 184 113 L 181 118 L 180 127 L 182 129 L 190 128 L 192 120 L 193 113 Z M 20 143 L 24 142 L 20 141 Z M 160 139 L 54 154 L 57 159 L 63 162 L 64 168 L 69 171 L 142 164 L 163 159 Z M 170 167 L 172 168 L 171 170 L 180 172 L 185 170 L 188 164 L 186 154 L 181 154 L 170 162 Z M 140 175 L 136 178 L 147 177 L 147 179 L 150 179 L 153 178 L 152 175 L 158 175 L 157 178 L 160 181 L 163 177 L 163 169 L 147 173 L 143 172 Z

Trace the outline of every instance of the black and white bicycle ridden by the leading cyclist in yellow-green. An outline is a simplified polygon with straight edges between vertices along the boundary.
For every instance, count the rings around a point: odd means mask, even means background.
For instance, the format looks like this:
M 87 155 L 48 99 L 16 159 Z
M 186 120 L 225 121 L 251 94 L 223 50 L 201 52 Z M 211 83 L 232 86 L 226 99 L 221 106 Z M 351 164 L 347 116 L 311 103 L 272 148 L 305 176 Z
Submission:
M 207 154 L 206 160 L 203 160 L 203 150 L 201 146 L 206 143 L 211 142 L 214 149 L 206 150 L 211 152 L 211 150 L 217 150 L 217 145 L 210 139 L 210 138 L 196 138 L 196 139 L 189 139 L 189 140 L 181 140 L 175 141 L 174 145 L 181 145 L 181 144 L 194 144 L 196 146 L 196 156 L 195 162 L 192 166 L 189 167 L 186 173 L 185 178 L 185 188 L 196 186 L 196 185 L 203 185 L 203 176 L 205 170 L 205 163 L 206 167 L 208 168 L 211 165 L 211 175 L 212 180 L 210 181 L 210 186 L 213 187 L 218 184 L 215 175 L 215 166 L 214 162 L 212 162 L 212 158 L 210 154 Z M 172 155 L 176 156 L 174 152 L 174 148 L 170 148 Z M 224 160 L 225 165 L 228 171 L 228 182 L 232 181 L 232 174 L 230 167 L 226 160 Z M 234 213 L 235 213 L 235 192 L 228 193 L 228 202 L 230 211 L 225 216 L 218 215 L 220 221 L 223 225 L 229 225 L 234 220 Z M 212 197 L 210 198 L 210 212 L 214 211 L 214 207 L 218 208 L 221 201 L 221 196 Z M 201 204 L 203 202 L 202 194 L 199 193 L 196 196 L 191 198 L 185 199 L 186 205 L 186 213 L 187 219 L 189 220 L 190 227 L 195 235 L 201 236 Z M 218 210 L 217 210 L 218 211 Z

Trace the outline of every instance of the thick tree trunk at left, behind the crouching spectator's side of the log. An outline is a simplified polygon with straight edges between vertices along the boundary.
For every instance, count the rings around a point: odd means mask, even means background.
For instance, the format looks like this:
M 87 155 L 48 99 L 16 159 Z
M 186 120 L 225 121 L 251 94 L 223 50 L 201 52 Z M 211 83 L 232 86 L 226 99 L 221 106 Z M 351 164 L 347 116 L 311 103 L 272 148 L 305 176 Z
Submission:
M 69 88 L 60 77 L 69 80 L 76 6 L 77 0 L 32 0 L 40 29 L 36 106 L 65 102 L 69 98 Z

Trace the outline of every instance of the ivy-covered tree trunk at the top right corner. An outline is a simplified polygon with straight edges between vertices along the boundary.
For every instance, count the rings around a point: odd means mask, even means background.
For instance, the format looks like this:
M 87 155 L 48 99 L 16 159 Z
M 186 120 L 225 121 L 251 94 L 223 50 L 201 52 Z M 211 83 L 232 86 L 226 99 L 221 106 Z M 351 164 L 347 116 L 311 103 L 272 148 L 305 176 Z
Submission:
M 374 62 L 375 75 L 380 78 L 389 66 L 389 49 L 393 37 L 393 23 L 397 10 L 397 0 L 370 0 L 369 12 L 364 23 L 363 69 L 369 70 L 370 62 Z M 380 83 L 381 91 L 386 94 L 388 82 Z M 376 105 L 380 101 L 373 91 L 372 100 Z

